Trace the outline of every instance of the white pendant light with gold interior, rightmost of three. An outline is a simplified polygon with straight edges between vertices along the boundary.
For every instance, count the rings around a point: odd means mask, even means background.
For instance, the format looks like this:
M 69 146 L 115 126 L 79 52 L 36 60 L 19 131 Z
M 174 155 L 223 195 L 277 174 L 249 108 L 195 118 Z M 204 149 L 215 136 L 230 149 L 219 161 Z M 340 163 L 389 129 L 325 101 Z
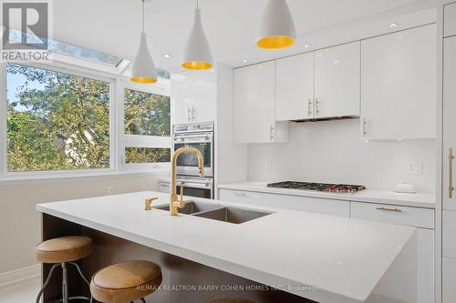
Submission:
M 286 0 L 268 0 L 256 45 L 265 49 L 281 49 L 294 43 L 295 22 Z

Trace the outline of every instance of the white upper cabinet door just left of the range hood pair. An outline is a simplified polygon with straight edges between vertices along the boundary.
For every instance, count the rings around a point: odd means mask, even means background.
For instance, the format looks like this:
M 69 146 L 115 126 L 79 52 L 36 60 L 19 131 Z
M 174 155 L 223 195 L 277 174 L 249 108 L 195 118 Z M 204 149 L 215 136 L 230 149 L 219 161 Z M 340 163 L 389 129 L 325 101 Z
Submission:
M 233 128 L 237 143 L 275 140 L 275 61 L 234 70 Z

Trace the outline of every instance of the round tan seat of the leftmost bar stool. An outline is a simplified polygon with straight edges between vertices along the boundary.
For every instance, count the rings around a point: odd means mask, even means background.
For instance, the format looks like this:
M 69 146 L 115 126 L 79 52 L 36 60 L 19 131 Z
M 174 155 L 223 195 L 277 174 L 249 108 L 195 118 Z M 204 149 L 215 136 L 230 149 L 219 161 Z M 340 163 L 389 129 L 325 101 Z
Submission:
M 87 257 L 92 252 L 92 239 L 84 236 L 56 237 L 36 246 L 36 260 L 63 263 Z

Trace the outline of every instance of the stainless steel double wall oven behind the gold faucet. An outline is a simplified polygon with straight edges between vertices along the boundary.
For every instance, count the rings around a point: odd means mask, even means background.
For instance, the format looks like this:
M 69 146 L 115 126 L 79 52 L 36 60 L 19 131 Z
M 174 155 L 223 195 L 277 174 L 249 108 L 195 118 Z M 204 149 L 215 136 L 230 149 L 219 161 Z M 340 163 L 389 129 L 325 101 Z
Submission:
M 173 150 L 194 147 L 201 151 L 204 177 L 199 177 L 198 159 L 192 154 L 177 158 L 176 190 L 185 196 L 213 198 L 213 122 L 191 123 L 172 127 Z M 171 180 L 161 179 L 160 189 L 171 192 Z

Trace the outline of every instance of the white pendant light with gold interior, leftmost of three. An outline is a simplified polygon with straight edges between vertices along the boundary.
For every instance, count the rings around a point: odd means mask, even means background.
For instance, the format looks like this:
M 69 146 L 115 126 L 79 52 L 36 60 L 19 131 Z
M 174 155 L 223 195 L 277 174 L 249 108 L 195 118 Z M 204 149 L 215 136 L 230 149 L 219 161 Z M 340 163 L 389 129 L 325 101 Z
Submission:
M 131 66 L 131 81 L 139 83 L 157 82 L 157 69 L 153 64 L 152 57 L 147 46 L 146 33 L 144 31 L 144 2 L 142 1 L 142 31 L 140 34 L 140 49 L 136 54 L 135 61 Z

